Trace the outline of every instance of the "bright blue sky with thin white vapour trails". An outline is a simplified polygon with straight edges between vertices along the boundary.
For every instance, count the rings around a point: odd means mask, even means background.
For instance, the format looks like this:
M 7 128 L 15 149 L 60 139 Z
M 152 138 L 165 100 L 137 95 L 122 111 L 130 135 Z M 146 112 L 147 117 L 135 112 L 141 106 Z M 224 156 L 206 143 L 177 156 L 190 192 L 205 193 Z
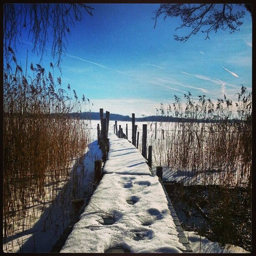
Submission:
M 94 105 L 110 113 L 154 115 L 160 102 L 174 102 L 174 94 L 194 98 L 206 95 L 212 100 L 231 100 L 240 84 L 252 86 L 252 22 L 246 10 L 240 31 L 197 33 L 186 42 L 174 40 L 179 18 L 159 17 L 154 29 L 154 11 L 159 4 L 91 4 L 93 16 L 84 15 L 68 36 L 67 55 L 54 76 L 61 75 L 62 86 L 69 83 L 77 95 L 84 94 Z M 16 57 L 21 66 L 39 57 L 31 53 L 26 33 L 20 38 Z M 50 42 L 51 43 L 51 42 Z M 48 47 L 51 48 L 49 43 Z M 41 62 L 46 70 L 54 60 L 51 51 Z

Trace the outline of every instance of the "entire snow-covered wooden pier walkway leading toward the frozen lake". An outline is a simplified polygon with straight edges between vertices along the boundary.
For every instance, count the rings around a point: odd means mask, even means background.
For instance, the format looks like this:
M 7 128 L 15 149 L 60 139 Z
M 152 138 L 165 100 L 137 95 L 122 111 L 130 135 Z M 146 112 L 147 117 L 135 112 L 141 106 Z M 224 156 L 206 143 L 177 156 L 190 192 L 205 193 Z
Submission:
M 105 175 L 60 252 L 191 251 L 163 184 L 138 149 L 115 134 L 109 147 Z

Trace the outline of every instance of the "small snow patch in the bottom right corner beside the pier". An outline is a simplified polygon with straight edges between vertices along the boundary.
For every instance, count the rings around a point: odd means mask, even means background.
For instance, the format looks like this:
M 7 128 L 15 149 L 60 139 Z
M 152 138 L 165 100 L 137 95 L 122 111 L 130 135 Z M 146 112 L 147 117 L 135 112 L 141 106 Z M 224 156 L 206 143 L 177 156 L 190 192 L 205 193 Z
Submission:
M 193 253 L 250 253 L 239 246 L 231 246 L 221 248 L 217 242 L 211 242 L 204 236 L 201 236 L 201 251 L 200 251 L 200 236 L 196 232 L 184 231 L 184 234 L 189 235 L 190 246 Z

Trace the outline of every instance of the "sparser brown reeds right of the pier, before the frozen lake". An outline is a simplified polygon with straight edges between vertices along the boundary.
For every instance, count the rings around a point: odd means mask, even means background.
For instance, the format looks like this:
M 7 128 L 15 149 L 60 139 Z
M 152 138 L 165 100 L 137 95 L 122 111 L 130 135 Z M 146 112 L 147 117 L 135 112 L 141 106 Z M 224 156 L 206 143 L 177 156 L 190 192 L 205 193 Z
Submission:
M 216 104 L 199 96 L 175 96 L 167 110 L 159 112 L 180 118 L 179 122 L 148 125 L 148 145 L 153 146 L 153 164 L 182 172 L 186 184 L 251 186 L 252 93 L 241 87 L 238 101 L 218 99 Z M 162 133 L 164 130 L 164 135 Z M 189 178 L 189 179 L 187 179 Z

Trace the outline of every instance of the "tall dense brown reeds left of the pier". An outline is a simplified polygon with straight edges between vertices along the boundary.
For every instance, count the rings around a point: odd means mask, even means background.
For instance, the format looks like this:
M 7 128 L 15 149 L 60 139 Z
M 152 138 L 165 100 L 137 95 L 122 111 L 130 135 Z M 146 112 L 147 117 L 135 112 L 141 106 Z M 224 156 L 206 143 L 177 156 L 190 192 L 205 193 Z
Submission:
M 60 182 L 70 179 L 74 161 L 79 166 L 90 138 L 90 123 L 69 115 L 85 110 L 85 97 L 79 100 L 75 91 L 71 96 L 70 85 L 64 90 L 60 77 L 55 83 L 52 64 L 49 73 L 39 64 L 31 64 L 27 72 L 10 48 L 8 55 L 3 84 L 4 238 L 31 228 L 38 209 L 40 216 L 54 202 Z

